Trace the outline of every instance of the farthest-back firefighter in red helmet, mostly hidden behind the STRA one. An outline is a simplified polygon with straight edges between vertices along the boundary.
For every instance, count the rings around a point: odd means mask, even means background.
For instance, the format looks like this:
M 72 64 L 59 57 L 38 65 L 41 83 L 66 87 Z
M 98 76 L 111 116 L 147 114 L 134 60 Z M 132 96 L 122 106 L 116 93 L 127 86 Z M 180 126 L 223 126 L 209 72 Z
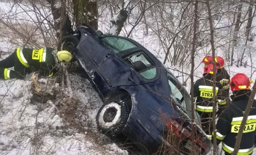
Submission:
M 220 56 L 216 56 L 215 63 L 216 63 L 216 68 L 218 69 L 216 81 L 221 83 L 221 85 L 223 87 L 221 94 L 224 96 L 227 103 L 230 103 L 230 99 L 229 99 L 229 87 L 230 86 L 228 84 L 229 80 L 230 80 L 230 76 L 227 73 L 227 70 L 224 68 L 225 61 Z M 218 115 L 220 115 L 221 112 L 223 112 L 223 110 L 226 108 L 226 105 L 227 104 L 218 105 Z

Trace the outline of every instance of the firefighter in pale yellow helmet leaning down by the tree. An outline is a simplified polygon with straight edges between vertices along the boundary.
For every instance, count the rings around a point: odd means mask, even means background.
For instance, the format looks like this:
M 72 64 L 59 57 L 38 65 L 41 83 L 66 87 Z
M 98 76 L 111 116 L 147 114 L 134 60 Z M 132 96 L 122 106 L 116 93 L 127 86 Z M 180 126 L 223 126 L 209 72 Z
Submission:
M 0 78 L 24 79 L 26 74 L 39 71 L 39 76 L 53 76 L 58 70 L 58 62 L 69 62 L 72 55 L 68 51 L 57 52 L 53 48 L 17 48 L 15 52 L 0 61 Z M 14 67 L 14 70 L 9 68 Z

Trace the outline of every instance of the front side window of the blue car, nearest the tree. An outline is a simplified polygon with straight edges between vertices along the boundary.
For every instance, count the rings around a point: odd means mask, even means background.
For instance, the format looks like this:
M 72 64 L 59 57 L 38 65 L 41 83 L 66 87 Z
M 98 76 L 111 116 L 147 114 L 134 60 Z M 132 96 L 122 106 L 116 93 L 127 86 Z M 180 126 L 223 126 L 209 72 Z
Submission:
M 108 48 L 114 51 L 115 54 L 127 49 L 137 47 L 131 41 L 119 37 L 104 37 L 102 38 L 102 41 L 106 46 L 108 46 Z

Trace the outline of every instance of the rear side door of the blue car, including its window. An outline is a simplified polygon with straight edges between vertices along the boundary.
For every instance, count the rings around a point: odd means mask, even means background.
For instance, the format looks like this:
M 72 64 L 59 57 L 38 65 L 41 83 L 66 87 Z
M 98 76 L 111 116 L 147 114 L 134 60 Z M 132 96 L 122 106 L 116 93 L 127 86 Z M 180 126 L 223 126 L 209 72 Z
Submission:
M 98 71 L 102 76 L 101 79 L 104 80 L 103 83 L 99 83 L 102 81 L 95 72 L 95 77 L 98 78 L 95 78 L 94 82 L 98 83 L 100 90 L 104 91 L 116 86 L 141 85 L 157 80 L 160 71 L 143 48 L 132 48 L 121 53 L 112 56 L 99 67 Z M 142 67 L 136 68 L 134 65 L 138 61 Z

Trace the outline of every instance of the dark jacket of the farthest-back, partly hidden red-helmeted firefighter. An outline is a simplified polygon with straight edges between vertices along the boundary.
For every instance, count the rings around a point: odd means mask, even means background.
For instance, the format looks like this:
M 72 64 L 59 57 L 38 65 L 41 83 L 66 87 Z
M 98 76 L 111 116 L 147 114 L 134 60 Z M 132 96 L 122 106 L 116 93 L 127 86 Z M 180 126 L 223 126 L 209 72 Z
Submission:
M 218 76 L 216 77 L 216 81 L 220 82 L 223 86 L 222 95 L 226 98 L 227 101 L 227 99 L 229 98 L 230 76 L 225 68 L 218 69 L 217 74 Z

